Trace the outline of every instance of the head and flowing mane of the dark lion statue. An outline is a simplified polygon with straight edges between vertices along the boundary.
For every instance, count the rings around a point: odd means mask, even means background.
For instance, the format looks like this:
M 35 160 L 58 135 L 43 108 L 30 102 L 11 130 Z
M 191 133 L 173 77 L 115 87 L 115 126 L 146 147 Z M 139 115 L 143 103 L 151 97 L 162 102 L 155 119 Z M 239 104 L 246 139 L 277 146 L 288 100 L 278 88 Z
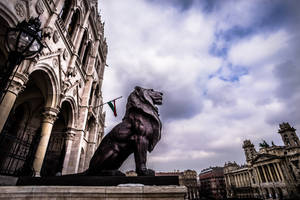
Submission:
M 161 121 L 159 119 L 158 108 L 155 105 L 162 104 L 162 96 L 162 92 L 136 86 L 127 100 L 124 119 L 129 118 L 132 112 L 138 111 L 139 113 L 144 113 L 145 117 L 149 117 L 153 121 L 153 137 L 149 144 L 149 152 L 153 150 L 161 137 Z

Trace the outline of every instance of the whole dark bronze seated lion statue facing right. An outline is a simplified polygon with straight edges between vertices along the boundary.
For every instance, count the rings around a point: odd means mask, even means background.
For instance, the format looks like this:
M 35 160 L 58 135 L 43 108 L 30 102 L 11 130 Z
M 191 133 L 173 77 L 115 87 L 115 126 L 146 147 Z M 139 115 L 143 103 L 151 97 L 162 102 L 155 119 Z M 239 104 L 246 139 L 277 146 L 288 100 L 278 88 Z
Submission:
M 147 169 L 147 151 L 151 152 L 161 137 L 161 121 L 158 108 L 163 93 L 153 89 L 135 87 L 129 95 L 126 113 L 101 141 L 95 151 L 87 175 L 124 175 L 118 169 L 128 156 L 134 153 L 136 173 L 139 176 L 154 175 Z

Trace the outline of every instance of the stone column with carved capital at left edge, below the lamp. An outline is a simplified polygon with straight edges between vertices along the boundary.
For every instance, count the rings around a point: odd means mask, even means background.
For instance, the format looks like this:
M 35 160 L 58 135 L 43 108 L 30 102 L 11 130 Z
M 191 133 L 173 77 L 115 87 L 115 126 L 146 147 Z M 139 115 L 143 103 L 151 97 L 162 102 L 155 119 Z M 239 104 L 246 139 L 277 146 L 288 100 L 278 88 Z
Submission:
M 27 76 L 20 75 L 20 77 L 18 77 L 17 75 L 11 81 L 7 92 L 3 94 L 5 96 L 0 104 L 0 133 L 2 132 L 9 113 L 15 104 L 18 94 L 23 91 L 25 83 L 28 81 Z

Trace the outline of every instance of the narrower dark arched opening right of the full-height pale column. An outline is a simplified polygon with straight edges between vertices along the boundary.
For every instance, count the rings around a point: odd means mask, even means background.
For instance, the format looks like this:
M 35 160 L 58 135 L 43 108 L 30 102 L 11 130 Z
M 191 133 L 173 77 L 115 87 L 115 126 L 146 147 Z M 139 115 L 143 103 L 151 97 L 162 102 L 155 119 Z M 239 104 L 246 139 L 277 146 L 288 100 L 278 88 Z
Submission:
M 71 124 L 72 107 L 67 101 L 64 101 L 52 128 L 46 156 L 41 170 L 42 176 L 61 175 L 66 155 L 65 137 Z

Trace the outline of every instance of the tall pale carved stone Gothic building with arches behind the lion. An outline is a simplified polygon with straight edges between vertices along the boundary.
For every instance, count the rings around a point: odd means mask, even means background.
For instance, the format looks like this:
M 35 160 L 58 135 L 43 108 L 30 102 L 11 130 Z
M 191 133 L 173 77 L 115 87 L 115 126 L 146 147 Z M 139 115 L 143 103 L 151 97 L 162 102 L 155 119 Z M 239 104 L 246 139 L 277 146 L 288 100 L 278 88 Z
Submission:
M 98 1 L 0 1 L 0 72 L 5 33 L 37 17 L 45 48 L 23 61 L 0 104 L 0 173 L 82 172 L 104 132 L 102 81 L 107 44 Z M 3 76 L 3 73 L 1 73 Z

